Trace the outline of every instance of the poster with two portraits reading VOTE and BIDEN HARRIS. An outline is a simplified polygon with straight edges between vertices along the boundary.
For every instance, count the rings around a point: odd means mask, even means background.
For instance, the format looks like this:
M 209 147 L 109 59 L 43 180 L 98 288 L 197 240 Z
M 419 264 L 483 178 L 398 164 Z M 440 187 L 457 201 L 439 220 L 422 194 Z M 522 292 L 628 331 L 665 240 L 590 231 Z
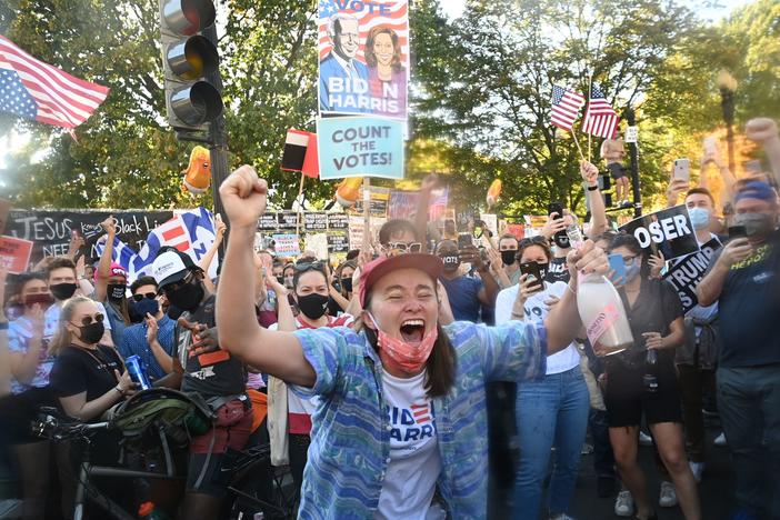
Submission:
M 318 42 L 320 114 L 406 119 L 407 0 L 321 1 Z

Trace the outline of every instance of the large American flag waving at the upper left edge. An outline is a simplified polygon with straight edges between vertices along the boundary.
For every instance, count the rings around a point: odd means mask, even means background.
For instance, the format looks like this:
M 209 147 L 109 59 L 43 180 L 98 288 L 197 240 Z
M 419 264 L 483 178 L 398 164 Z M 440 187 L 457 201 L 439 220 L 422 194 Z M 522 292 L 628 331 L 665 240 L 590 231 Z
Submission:
M 0 112 L 73 129 L 108 96 L 90 83 L 39 61 L 0 36 Z

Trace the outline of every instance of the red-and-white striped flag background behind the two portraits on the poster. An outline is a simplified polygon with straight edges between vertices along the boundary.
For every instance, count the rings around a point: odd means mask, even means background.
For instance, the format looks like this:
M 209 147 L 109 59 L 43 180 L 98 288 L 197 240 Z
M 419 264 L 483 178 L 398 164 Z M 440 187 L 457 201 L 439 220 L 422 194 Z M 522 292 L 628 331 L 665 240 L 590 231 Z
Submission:
M 366 39 L 374 27 L 382 26 L 392 29 L 398 34 L 398 42 L 401 46 L 401 62 L 407 67 L 409 60 L 409 8 L 407 0 L 376 0 L 370 2 L 351 2 L 348 0 L 320 0 L 319 3 L 319 52 L 320 60 L 323 60 L 333 48 L 333 43 L 328 36 L 328 21 L 331 16 L 343 12 L 351 13 L 358 18 L 360 23 L 360 49 L 358 59 L 366 63 Z M 360 6 L 363 9 L 356 10 L 352 6 Z M 389 12 L 380 12 L 379 6 L 388 6 Z

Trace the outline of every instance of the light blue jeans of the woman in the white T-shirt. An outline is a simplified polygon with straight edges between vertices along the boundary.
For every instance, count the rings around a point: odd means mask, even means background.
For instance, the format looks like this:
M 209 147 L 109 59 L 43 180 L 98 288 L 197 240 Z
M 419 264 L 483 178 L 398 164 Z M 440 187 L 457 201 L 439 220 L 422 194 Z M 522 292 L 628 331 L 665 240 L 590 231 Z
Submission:
M 542 483 L 556 446 L 548 493 L 550 514 L 566 513 L 574 493 L 590 399 L 580 367 L 518 384 L 520 470 L 514 483 L 513 519 L 539 519 Z

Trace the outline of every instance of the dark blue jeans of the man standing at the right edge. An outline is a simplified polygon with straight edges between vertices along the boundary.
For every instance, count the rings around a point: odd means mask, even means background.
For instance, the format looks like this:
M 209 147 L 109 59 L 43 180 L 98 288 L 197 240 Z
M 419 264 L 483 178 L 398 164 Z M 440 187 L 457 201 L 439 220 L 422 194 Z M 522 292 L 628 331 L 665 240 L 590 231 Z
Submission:
M 719 368 L 717 381 L 737 502 L 758 518 L 780 518 L 780 364 Z

